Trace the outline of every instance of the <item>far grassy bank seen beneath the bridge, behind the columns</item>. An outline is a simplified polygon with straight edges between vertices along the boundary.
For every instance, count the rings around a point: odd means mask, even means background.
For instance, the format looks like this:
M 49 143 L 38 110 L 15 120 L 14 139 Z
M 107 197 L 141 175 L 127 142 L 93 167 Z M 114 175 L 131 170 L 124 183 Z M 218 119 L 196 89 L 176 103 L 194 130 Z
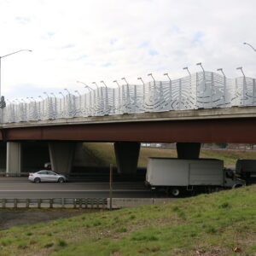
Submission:
M 115 165 L 113 144 L 111 143 L 84 143 L 102 163 L 108 166 L 110 163 Z M 147 166 L 148 157 L 177 157 L 176 149 L 170 148 L 141 148 L 138 166 Z M 231 151 L 231 150 L 201 150 L 201 158 L 216 158 L 224 160 L 225 166 L 235 166 L 239 158 L 256 159 L 256 152 Z

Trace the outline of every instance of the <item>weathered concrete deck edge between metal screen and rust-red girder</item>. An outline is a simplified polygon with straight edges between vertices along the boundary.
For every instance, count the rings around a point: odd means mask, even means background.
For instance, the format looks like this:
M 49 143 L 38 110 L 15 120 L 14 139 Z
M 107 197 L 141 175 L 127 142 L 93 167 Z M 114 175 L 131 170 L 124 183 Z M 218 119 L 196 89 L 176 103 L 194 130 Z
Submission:
M 0 124 L 1 129 L 52 125 L 90 125 L 127 122 L 177 121 L 198 119 L 251 119 L 256 118 L 256 107 L 201 108 L 153 113 L 127 113 L 104 116 L 47 119 Z

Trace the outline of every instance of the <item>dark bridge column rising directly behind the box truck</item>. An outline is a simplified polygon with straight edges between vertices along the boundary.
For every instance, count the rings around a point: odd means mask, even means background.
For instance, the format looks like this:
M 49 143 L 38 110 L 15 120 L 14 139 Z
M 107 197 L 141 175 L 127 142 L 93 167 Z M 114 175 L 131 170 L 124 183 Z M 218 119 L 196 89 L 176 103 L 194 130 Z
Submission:
M 177 158 L 198 159 L 201 143 L 176 143 Z

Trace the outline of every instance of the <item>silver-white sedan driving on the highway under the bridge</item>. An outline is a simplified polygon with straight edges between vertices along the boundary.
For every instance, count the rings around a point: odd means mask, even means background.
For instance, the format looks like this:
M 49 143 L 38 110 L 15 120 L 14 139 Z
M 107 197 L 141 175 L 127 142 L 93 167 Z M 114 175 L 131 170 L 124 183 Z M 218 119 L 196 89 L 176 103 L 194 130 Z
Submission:
M 29 173 L 28 179 L 34 183 L 41 182 L 53 182 L 53 183 L 64 183 L 67 182 L 67 177 L 62 174 L 58 174 L 52 171 L 39 171 Z

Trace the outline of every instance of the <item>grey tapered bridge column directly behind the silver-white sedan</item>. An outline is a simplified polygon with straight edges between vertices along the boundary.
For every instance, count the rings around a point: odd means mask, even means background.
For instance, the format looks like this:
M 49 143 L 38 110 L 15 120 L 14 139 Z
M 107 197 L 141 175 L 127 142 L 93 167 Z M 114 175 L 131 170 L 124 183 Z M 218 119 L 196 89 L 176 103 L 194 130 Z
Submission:
M 70 173 L 75 143 L 49 143 L 49 159 L 54 172 Z

